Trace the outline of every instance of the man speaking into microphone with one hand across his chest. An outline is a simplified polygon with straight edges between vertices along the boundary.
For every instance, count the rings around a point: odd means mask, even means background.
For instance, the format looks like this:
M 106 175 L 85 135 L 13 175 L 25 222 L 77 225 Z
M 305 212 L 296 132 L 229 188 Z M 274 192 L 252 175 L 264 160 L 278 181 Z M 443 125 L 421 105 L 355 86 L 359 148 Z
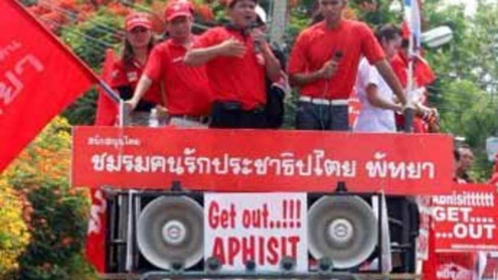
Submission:
M 206 65 L 213 91 L 211 127 L 265 128 L 265 74 L 276 82 L 280 66 L 263 33 L 252 28 L 257 0 L 231 0 L 231 22 L 204 33 L 184 59 Z

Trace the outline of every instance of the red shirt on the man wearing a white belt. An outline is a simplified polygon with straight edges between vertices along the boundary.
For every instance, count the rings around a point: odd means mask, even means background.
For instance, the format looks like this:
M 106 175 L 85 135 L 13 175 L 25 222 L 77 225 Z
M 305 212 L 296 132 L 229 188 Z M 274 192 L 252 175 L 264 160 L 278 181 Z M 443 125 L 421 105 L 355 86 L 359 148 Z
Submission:
M 362 55 L 370 64 L 384 59 L 384 50 L 363 22 L 341 20 L 336 28 L 321 21 L 303 30 L 289 61 L 289 74 L 312 73 L 323 67 L 336 51 L 343 52 L 337 72 L 328 81 L 317 80 L 301 87 L 301 95 L 326 99 L 348 99 L 356 81 Z M 325 92 L 326 91 L 326 92 Z

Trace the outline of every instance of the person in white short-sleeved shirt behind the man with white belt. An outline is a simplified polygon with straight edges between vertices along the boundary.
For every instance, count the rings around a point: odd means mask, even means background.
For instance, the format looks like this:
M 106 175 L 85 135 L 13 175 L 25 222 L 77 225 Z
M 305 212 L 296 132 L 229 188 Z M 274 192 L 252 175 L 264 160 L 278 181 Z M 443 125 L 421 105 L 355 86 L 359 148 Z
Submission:
M 376 36 L 390 60 L 401 47 L 400 30 L 387 24 L 378 30 Z M 356 90 L 362 109 L 354 131 L 396 132 L 394 111 L 402 111 L 403 106 L 394 101 L 391 88 L 365 57 L 358 68 Z

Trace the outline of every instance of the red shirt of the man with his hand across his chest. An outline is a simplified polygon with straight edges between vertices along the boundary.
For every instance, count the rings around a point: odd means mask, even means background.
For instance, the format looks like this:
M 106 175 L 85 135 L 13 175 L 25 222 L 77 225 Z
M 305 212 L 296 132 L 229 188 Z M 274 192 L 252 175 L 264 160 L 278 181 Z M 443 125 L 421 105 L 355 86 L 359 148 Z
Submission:
M 200 36 L 196 47 L 218 45 L 234 37 L 246 46 L 244 57 L 217 56 L 206 64 L 209 84 L 217 101 L 238 101 L 243 109 L 252 110 L 266 104 L 265 67 L 258 62 L 251 36 L 238 30 L 215 27 Z

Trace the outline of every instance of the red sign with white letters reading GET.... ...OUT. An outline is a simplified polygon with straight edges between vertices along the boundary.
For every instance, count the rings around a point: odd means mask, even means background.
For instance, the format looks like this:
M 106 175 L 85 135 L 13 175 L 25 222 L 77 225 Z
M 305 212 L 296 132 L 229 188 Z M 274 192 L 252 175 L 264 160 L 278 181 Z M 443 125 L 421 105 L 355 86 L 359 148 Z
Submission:
M 432 197 L 437 251 L 498 251 L 498 194 L 488 184 L 459 184 Z

